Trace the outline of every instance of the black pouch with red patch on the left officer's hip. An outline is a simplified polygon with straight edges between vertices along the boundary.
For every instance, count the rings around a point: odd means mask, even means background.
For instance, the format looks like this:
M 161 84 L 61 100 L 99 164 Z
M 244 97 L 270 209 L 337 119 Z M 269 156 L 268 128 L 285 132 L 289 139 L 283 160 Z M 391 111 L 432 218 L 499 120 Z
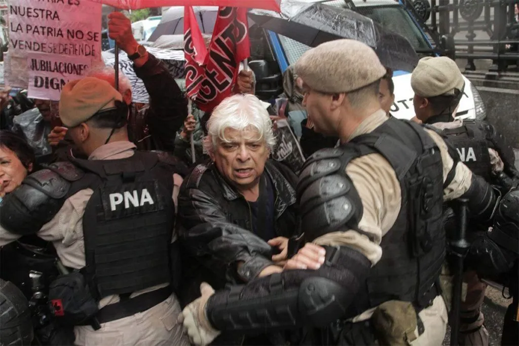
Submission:
M 85 325 L 99 312 L 85 276 L 79 271 L 60 275 L 49 287 L 50 311 L 64 325 Z

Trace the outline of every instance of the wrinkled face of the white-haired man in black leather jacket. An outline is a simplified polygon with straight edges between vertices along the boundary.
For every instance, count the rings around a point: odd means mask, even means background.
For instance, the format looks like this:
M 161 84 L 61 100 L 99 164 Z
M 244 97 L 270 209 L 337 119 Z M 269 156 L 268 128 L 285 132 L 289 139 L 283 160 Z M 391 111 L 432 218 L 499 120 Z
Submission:
M 218 139 L 211 159 L 220 173 L 239 189 L 257 184 L 265 169 L 269 150 L 256 129 L 227 128 L 225 141 Z

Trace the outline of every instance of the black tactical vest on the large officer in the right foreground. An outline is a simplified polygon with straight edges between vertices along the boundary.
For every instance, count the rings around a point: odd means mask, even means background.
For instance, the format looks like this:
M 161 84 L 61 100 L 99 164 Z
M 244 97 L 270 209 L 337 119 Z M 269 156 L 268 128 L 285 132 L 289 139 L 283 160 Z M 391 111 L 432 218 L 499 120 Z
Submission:
M 438 146 L 418 124 L 396 118 L 350 143 L 347 145 L 355 146 L 359 156 L 384 156 L 399 179 L 402 193 L 397 220 L 380 243 L 382 257 L 365 282 L 365 299 L 359 299 L 354 309 L 360 313 L 388 300 L 427 306 L 446 249 L 441 224 L 443 165 Z

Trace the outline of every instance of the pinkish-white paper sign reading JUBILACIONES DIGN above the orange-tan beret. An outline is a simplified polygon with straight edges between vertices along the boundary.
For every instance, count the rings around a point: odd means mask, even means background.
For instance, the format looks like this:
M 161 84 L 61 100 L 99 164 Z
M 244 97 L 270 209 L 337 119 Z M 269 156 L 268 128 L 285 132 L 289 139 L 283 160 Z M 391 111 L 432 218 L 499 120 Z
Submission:
M 67 57 L 57 54 L 27 54 L 29 93 L 33 99 L 59 100 L 63 86 L 79 79 L 90 68 L 87 57 Z

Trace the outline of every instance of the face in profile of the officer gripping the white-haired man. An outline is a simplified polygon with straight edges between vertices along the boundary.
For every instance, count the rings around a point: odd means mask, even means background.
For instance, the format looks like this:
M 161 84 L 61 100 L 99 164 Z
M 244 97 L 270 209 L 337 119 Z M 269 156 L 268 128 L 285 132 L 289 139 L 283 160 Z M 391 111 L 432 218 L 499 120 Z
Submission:
M 331 110 L 332 95 L 312 90 L 303 84 L 303 106 L 308 119 L 313 123 L 313 131 L 324 135 L 337 135 L 337 119 Z

